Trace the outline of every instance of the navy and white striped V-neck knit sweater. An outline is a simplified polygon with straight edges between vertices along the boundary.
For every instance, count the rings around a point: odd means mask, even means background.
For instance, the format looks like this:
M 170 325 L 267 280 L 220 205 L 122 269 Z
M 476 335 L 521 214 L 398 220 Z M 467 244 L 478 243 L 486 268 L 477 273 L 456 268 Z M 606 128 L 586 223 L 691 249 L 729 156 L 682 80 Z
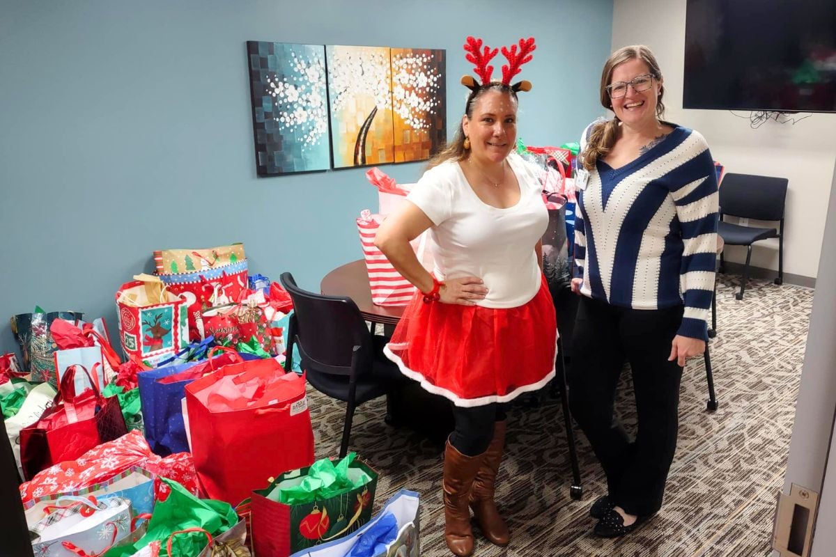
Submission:
M 581 293 L 634 309 L 684 302 L 677 334 L 707 340 L 718 205 L 706 140 L 676 126 L 629 164 L 596 166 L 575 215 Z

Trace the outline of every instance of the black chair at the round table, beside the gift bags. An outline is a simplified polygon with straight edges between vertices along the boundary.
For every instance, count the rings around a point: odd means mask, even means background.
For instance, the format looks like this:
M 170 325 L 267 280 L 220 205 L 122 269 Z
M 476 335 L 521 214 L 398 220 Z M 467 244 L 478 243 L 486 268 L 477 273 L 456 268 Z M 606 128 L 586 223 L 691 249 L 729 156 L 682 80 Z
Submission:
M 304 291 L 288 272 L 279 280 L 293 300 L 287 361 L 293 362 L 293 346 L 298 346 L 308 382 L 319 392 L 346 403 L 339 447 L 339 458 L 343 458 L 349 449 L 354 409 L 385 395 L 402 376 L 382 355 L 385 339 L 369 331 L 351 298 Z

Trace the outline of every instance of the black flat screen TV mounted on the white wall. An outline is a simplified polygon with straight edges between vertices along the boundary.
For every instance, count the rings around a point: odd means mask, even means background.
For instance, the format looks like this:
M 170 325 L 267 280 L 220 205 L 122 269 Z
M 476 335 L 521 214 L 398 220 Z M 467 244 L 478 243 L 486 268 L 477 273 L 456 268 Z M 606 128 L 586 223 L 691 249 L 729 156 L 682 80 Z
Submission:
M 682 106 L 836 112 L 836 0 L 687 0 Z

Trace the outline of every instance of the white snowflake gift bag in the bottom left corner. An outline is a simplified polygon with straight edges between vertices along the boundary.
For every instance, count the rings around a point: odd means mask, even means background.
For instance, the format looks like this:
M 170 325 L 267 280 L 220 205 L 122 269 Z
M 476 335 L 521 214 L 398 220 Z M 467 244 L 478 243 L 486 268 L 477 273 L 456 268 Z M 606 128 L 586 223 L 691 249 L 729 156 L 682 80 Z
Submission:
M 98 555 L 130 535 L 130 501 L 62 497 L 30 529 L 38 557 Z

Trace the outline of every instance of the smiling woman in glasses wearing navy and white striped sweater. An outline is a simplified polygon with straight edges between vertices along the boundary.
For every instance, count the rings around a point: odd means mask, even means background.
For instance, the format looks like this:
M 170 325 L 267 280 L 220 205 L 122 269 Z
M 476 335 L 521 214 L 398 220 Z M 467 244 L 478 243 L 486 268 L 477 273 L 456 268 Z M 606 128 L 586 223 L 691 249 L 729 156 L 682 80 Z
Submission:
M 601 76 L 614 119 L 581 142 L 572 289 L 581 296 L 568 377 L 572 412 L 607 476 L 594 532 L 627 534 L 661 507 L 676 448 L 686 359 L 706 347 L 717 184 L 701 134 L 661 120 L 664 86 L 650 49 L 620 48 Z M 635 441 L 612 424 L 630 362 Z

